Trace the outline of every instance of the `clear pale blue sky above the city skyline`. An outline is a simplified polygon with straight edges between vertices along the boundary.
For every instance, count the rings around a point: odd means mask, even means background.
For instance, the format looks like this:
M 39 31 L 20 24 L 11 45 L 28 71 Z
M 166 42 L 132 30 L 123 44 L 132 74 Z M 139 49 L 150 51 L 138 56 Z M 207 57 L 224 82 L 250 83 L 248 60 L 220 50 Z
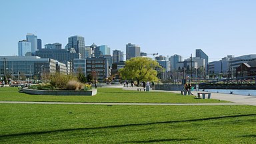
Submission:
M 195 55 L 209 61 L 255 54 L 255 0 L 11 0 L 1 1 L 0 55 L 17 55 L 17 43 L 35 33 L 47 43 L 67 44 L 72 35 L 85 45 L 125 44 L 159 55 Z

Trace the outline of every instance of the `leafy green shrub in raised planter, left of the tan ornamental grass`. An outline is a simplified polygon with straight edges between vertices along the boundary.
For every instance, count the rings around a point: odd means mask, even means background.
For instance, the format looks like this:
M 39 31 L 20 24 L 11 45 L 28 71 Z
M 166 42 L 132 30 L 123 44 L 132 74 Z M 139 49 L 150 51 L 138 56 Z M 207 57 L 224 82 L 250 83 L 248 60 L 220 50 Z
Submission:
M 56 73 L 55 75 L 51 75 L 50 83 L 53 87 L 57 87 L 59 89 L 67 89 L 67 83 L 71 80 L 77 80 L 73 75 L 63 75 Z

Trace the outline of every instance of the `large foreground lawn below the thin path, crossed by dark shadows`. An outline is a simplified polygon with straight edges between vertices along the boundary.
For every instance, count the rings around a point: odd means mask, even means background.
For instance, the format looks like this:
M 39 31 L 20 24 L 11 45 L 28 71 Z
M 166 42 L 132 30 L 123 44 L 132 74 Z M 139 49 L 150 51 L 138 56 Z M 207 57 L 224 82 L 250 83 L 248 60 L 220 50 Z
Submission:
M 256 143 L 249 105 L 0 104 L 0 143 Z

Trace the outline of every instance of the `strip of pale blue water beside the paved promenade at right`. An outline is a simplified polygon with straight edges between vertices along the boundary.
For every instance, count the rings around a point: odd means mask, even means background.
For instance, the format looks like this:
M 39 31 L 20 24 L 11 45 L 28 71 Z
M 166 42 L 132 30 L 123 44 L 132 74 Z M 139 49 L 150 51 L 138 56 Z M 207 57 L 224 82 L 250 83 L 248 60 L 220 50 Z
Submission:
M 202 89 L 199 89 L 202 91 Z M 256 96 L 256 90 L 253 89 L 205 89 L 205 91 L 213 92 L 213 93 L 228 93 L 233 92 L 235 95 L 251 95 Z

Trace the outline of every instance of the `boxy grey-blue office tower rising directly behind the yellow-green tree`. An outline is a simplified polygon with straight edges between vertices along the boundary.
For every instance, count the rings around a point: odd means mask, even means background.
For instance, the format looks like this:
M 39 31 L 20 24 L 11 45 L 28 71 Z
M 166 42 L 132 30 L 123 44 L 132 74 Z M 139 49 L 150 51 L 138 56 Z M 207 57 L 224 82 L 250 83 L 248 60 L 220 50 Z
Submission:
M 132 57 L 141 56 L 141 47 L 128 43 L 126 45 L 126 60 L 131 59 Z

